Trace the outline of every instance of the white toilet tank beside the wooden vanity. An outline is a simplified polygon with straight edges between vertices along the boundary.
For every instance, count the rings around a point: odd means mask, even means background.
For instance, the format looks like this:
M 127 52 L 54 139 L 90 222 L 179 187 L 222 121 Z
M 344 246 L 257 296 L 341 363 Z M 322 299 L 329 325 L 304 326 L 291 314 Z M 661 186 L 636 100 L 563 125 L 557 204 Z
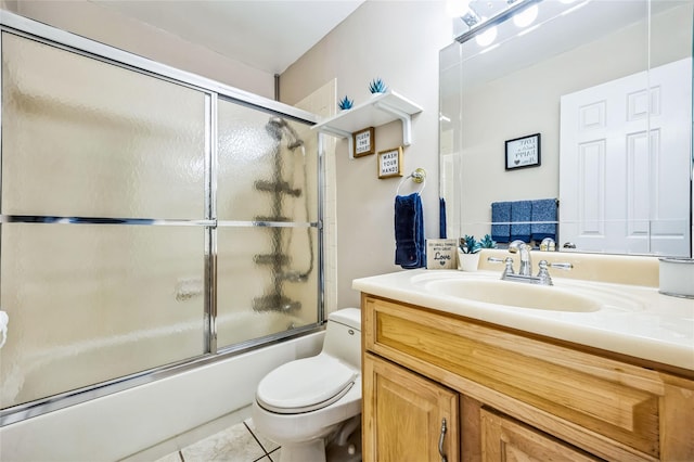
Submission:
M 361 310 L 343 308 L 327 317 L 323 352 L 361 369 Z

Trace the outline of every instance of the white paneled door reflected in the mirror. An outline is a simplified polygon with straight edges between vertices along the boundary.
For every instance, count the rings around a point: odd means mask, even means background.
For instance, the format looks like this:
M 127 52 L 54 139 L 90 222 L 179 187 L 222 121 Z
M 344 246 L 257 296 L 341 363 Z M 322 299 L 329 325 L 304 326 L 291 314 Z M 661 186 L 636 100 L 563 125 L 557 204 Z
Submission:
M 689 255 L 691 75 L 686 59 L 562 97 L 562 242 Z

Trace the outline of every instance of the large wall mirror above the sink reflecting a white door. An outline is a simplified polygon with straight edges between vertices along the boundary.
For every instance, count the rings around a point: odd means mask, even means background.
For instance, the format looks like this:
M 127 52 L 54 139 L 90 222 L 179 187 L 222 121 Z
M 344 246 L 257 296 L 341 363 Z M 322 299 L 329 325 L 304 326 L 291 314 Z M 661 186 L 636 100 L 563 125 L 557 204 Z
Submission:
M 448 236 L 511 239 L 503 207 L 553 203 L 562 252 L 692 256 L 694 1 L 531 8 L 440 52 Z

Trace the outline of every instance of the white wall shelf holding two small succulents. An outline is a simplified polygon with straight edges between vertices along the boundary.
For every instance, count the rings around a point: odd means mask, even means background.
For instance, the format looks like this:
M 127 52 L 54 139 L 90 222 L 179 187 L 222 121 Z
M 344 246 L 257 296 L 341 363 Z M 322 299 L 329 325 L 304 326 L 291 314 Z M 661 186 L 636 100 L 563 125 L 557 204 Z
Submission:
M 402 144 L 412 144 L 412 115 L 422 112 L 422 107 L 404 97 L 388 90 L 372 95 L 369 100 L 343 111 L 333 117 L 311 127 L 323 133 L 346 138 L 349 144 L 349 157 L 354 158 L 352 133 L 368 127 L 378 127 L 393 120 L 402 121 Z

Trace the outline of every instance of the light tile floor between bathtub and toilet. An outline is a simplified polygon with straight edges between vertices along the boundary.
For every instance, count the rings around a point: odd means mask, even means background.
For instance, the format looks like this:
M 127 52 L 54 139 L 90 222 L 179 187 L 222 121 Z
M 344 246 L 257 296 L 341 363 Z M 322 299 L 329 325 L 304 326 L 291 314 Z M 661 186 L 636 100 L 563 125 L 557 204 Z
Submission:
M 278 462 L 279 445 L 254 431 L 248 419 L 156 462 Z

